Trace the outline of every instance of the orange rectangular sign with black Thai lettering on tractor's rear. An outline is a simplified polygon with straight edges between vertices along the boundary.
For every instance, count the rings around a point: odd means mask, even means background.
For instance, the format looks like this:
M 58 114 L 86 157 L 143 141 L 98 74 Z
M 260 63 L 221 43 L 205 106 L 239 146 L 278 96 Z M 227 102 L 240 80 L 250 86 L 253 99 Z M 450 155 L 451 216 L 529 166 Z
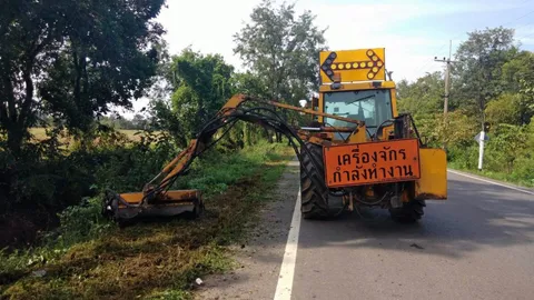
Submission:
M 330 188 L 421 178 L 417 139 L 330 146 L 323 151 Z

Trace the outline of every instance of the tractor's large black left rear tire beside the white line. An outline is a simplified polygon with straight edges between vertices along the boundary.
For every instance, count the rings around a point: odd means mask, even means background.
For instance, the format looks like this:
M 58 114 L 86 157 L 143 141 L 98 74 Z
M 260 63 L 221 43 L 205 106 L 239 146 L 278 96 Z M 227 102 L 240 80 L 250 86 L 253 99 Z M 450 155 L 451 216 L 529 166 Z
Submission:
M 306 142 L 300 154 L 300 212 L 304 219 L 326 219 L 328 213 L 328 188 L 325 183 L 323 147 Z

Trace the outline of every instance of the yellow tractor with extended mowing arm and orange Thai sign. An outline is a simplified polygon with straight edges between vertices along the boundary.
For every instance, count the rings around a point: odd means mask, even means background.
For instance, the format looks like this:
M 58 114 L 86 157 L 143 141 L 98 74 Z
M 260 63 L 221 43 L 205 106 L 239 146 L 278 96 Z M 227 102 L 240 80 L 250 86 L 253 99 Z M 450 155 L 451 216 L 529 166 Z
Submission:
M 416 221 L 425 200 L 447 198 L 446 154 L 426 147 L 409 114 L 399 114 L 395 83 L 386 80 L 385 49 L 320 52 L 320 88 L 304 108 L 234 96 L 141 192 L 108 191 L 103 213 L 118 222 L 148 216 L 198 217 L 198 190 L 169 190 L 191 161 L 237 121 L 286 136 L 300 161 L 301 213 L 324 219 L 359 207 L 380 207 L 399 221 Z M 276 108 L 276 109 L 275 109 Z M 277 111 L 313 116 L 294 127 Z M 214 140 L 219 132 L 220 137 Z M 332 199 L 342 199 L 333 210 Z

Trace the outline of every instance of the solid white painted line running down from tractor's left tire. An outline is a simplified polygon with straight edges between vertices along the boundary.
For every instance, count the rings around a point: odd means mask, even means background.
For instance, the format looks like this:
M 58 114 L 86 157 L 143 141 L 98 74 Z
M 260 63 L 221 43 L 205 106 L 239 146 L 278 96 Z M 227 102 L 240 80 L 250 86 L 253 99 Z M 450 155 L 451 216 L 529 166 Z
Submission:
M 300 189 L 298 189 L 297 203 L 293 211 L 291 227 L 287 236 L 286 250 L 281 261 L 280 274 L 276 284 L 275 300 L 290 300 L 293 291 L 293 277 L 297 261 L 298 232 L 300 231 Z

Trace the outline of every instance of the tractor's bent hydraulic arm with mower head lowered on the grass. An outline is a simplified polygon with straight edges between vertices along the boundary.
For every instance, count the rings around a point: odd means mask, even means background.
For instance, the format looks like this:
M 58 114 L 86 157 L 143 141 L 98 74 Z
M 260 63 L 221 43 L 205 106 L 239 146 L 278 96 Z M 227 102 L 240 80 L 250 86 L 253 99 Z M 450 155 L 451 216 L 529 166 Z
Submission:
M 345 121 L 354 127 L 343 128 L 295 128 L 288 126 L 274 108 L 298 111 L 313 116 Z M 142 192 L 116 193 L 108 191 L 103 213 L 117 221 L 126 221 L 138 216 L 175 216 L 181 212 L 200 213 L 202 210 L 201 193 L 198 190 L 169 190 L 175 180 L 186 172 L 192 160 L 218 142 L 237 121 L 257 123 L 285 134 L 291 142 L 297 157 L 303 149 L 309 131 L 354 133 L 364 122 L 310 109 L 298 108 L 277 101 L 259 100 L 245 94 L 236 94 L 217 112 L 192 139 L 189 146 L 176 156 L 152 180 Z M 212 140 L 216 132 L 224 129 L 222 134 Z M 305 149 L 305 148 L 304 148 Z M 320 163 L 320 162 L 317 162 Z

